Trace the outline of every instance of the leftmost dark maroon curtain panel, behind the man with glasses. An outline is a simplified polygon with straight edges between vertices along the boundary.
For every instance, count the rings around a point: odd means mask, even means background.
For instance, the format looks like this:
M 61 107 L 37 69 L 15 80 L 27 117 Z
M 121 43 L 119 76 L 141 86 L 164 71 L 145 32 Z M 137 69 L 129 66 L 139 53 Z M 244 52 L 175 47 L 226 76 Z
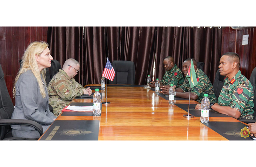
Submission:
M 75 80 L 84 85 L 84 41 L 83 27 L 48 27 L 47 43 L 51 55 L 63 66 L 68 58 L 80 63 L 80 70 Z

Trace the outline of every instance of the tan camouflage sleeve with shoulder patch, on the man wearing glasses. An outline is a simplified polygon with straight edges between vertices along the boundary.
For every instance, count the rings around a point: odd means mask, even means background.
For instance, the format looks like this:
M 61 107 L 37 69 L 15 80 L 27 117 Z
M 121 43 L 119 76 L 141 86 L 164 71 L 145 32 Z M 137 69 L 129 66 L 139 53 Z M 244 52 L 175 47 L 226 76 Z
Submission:
M 83 95 L 83 90 L 79 88 L 73 89 L 66 80 L 58 80 L 53 86 L 57 95 L 63 100 L 73 100 L 76 96 Z

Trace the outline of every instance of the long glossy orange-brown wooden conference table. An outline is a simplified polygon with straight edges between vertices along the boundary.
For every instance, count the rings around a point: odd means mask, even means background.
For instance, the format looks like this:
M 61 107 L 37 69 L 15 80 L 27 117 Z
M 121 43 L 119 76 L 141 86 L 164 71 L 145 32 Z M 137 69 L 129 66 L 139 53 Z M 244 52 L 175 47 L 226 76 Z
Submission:
M 100 86 L 86 85 L 86 86 Z M 95 90 L 92 90 L 92 94 Z M 102 91 L 106 102 L 106 90 Z M 56 120 L 99 120 L 98 140 L 227 140 L 200 122 L 184 118 L 186 111 L 143 87 L 107 87 L 108 105 L 101 116 L 62 116 Z M 93 102 L 74 99 L 72 102 Z M 188 103 L 176 100 L 175 103 Z M 198 102 L 191 100 L 191 104 Z M 200 111 L 199 111 L 200 112 Z M 210 117 L 210 121 L 240 122 L 231 117 Z

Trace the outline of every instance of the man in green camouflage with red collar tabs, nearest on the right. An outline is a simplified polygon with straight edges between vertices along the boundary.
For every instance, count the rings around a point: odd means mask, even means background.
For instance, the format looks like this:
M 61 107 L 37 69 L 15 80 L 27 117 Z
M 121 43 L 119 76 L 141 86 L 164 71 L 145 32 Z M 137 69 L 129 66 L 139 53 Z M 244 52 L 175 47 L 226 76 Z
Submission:
M 210 107 L 236 119 L 253 119 L 253 87 L 245 78 L 240 67 L 240 57 L 234 52 L 227 52 L 220 58 L 220 75 L 226 76 L 224 85 L 218 97 L 218 103 Z

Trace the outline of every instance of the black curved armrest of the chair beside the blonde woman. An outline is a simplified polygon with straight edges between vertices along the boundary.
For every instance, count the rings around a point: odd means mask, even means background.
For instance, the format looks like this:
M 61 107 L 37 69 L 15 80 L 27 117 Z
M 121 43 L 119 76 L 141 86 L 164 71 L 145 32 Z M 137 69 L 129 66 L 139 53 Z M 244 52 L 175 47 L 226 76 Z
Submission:
M 43 135 L 43 128 L 40 124 L 32 120 L 26 119 L 0 119 L 0 126 L 3 125 L 26 125 L 35 128 L 39 133 L 40 136 Z

